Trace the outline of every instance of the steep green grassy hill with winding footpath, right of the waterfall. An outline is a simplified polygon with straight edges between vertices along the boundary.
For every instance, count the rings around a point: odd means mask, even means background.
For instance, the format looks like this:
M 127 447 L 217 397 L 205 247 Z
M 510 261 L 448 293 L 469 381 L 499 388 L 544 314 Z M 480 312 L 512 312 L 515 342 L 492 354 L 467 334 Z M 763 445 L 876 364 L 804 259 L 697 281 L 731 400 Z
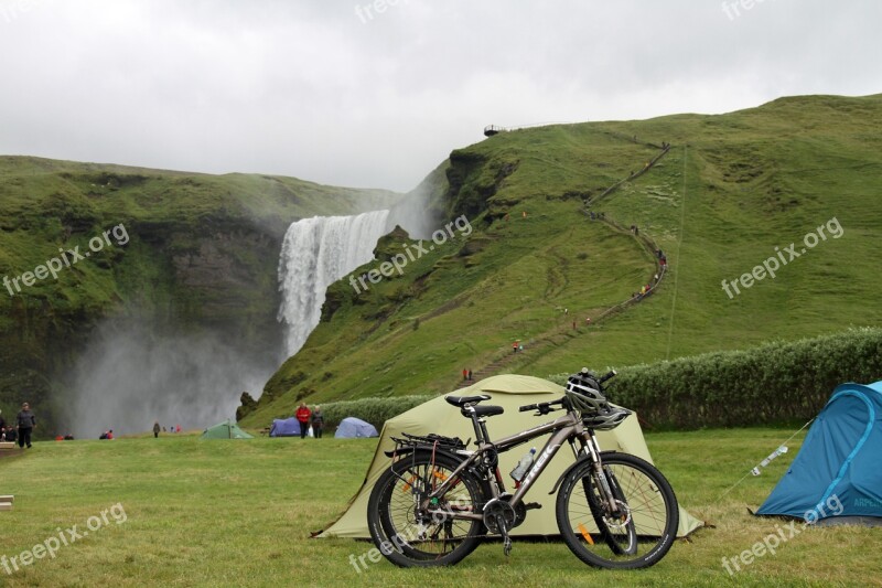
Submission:
M 288 415 L 300 398 L 442 393 L 463 368 L 546 376 L 878 325 L 880 180 L 882 95 L 524 129 L 456 150 L 435 190 L 471 234 L 367 292 L 334 285 L 323 322 L 245 423 Z M 585 328 L 657 270 L 631 232 L 588 211 L 636 225 L 669 271 L 654 296 Z M 778 253 L 775 278 L 747 276 Z M 727 295 L 722 280 L 742 276 L 750 287 Z M 525 353 L 506 360 L 514 340 Z

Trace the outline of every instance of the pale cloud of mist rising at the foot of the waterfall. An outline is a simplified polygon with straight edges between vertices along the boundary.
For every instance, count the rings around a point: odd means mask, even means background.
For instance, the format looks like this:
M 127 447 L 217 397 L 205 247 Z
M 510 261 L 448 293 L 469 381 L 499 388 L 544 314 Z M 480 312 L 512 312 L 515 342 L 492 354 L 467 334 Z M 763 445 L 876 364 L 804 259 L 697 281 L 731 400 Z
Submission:
M 161 426 L 205 428 L 236 418 L 244 391 L 259 395 L 279 353 L 236 348 L 234 333 L 159 333 L 155 322 L 107 320 L 78 357 L 68 405 L 76 438 L 107 430 L 132 434 Z M 255 394 L 257 393 L 257 394 Z

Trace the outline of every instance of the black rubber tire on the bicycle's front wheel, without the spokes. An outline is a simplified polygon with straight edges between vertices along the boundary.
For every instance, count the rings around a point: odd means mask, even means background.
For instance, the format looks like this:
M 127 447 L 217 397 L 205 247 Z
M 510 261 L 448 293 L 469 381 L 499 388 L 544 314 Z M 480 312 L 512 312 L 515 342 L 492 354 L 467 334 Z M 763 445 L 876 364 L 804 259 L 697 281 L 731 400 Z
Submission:
M 660 531 L 656 544 L 645 555 L 636 556 L 633 559 L 610 559 L 587 549 L 580 535 L 572 528 L 569 513 L 569 501 L 576 485 L 581 483 L 585 475 L 590 477 L 591 474 L 592 464 L 585 461 L 570 470 L 558 491 L 556 515 L 558 528 L 564 543 L 579 559 L 593 567 L 637 569 L 657 564 L 667 555 L 668 550 L 670 550 L 670 547 L 674 545 L 674 541 L 677 537 L 677 527 L 679 525 L 679 506 L 670 483 L 655 466 L 636 456 L 607 451 L 602 453 L 601 459 L 604 466 L 622 466 L 624 468 L 637 470 L 656 485 L 665 505 L 664 528 Z M 593 484 L 593 479 L 590 480 L 590 483 Z M 592 510 L 592 516 L 593 515 L 594 513 Z M 599 525 L 599 527 L 602 530 L 601 525 Z

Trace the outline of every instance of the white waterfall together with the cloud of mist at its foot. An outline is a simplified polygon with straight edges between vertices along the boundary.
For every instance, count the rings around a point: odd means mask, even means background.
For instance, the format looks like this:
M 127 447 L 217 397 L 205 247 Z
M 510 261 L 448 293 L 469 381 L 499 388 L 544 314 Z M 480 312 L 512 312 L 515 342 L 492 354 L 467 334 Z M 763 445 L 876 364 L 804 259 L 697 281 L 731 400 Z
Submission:
M 391 212 L 292 223 L 278 264 L 284 335 L 267 333 L 261 349 L 234 328 L 181 327 L 158 320 L 155 311 L 106 319 L 65 378 L 69 394 L 58 408 L 67 428 L 57 432 L 95 439 L 107 429 L 147 431 L 154 421 L 202 429 L 235 418 L 241 393 L 258 398 L 279 364 L 303 346 L 327 287 L 370 261 L 377 240 L 396 224 L 426 238 L 438 225 L 430 218 L 424 199 L 415 196 Z

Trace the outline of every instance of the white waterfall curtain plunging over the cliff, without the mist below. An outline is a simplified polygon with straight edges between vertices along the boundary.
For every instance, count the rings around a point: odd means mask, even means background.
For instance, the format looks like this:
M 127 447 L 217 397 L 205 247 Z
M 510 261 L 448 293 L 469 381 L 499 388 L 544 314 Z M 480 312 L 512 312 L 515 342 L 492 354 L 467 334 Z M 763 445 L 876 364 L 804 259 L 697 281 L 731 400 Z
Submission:
M 279 321 L 288 325 L 289 356 L 300 351 L 319 324 L 327 287 L 374 258 L 388 216 L 389 211 L 313 216 L 288 227 L 279 257 Z

